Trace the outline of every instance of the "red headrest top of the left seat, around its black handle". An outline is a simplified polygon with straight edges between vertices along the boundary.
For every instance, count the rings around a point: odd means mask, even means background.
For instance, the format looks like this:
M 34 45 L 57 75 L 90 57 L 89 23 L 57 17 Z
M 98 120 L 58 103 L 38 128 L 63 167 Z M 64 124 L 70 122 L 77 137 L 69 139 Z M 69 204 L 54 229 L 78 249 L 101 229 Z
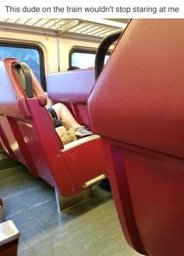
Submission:
M 16 71 L 15 65 L 19 64 L 19 72 Z M 1 114 L 6 114 L 14 117 L 28 117 L 30 111 L 27 107 L 27 94 L 25 92 L 24 82 L 26 81 L 26 70 L 30 71 L 30 83 L 33 88 L 33 96 L 37 98 L 40 106 L 47 104 L 47 99 L 44 95 L 44 90 L 35 78 L 32 70 L 26 64 L 19 63 L 18 59 L 7 58 L 0 62 L 0 76 L 2 83 L 0 85 L 0 106 Z M 6 97 L 9 96 L 9 97 Z

